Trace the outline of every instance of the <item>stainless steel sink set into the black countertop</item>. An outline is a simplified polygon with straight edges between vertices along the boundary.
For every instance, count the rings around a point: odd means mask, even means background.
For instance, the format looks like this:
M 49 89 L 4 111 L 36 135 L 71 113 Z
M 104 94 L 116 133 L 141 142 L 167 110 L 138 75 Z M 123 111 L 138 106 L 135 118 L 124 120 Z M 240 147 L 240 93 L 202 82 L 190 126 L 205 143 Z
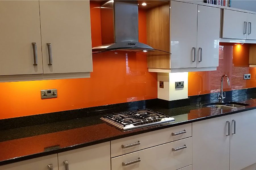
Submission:
M 249 104 L 232 101 L 227 103 L 209 103 L 209 104 L 205 104 L 204 106 L 226 110 L 226 109 L 234 109 L 234 108 L 249 106 Z

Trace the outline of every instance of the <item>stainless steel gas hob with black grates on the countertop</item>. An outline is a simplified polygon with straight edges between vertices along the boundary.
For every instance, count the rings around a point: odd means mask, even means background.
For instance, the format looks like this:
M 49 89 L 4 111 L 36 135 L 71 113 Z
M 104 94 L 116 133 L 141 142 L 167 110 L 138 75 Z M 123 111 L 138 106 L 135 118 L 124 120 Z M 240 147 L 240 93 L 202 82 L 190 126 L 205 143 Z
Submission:
M 149 109 L 108 114 L 103 116 L 101 120 L 123 130 L 175 121 L 170 116 Z

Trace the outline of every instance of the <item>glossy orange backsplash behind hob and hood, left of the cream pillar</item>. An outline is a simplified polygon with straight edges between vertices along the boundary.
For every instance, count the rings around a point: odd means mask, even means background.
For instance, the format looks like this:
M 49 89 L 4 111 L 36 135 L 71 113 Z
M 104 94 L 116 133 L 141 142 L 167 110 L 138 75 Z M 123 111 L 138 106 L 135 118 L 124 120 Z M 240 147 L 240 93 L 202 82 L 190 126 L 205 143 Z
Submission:
M 139 13 L 141 24 L 145 12 Z M 92 46 L 101 44 L 99 3 L 91 3 Z M 146 42 L 145 26 L 139 39 Z M 57 88 L 58 97 L 41 99 L 40 90 Z M 157 98 L 157 73 L 134 52 L 93 54 L 91 78 L 0 83 L 0 119 Z

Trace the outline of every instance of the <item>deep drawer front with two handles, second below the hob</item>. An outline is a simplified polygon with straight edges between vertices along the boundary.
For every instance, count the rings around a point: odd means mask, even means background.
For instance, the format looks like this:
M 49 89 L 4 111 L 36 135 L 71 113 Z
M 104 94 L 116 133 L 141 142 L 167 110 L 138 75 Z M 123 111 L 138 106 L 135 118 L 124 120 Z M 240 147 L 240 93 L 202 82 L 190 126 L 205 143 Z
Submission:
M 176 170 L 191 164 L 192 137 L 112 158 L 111 170 Z

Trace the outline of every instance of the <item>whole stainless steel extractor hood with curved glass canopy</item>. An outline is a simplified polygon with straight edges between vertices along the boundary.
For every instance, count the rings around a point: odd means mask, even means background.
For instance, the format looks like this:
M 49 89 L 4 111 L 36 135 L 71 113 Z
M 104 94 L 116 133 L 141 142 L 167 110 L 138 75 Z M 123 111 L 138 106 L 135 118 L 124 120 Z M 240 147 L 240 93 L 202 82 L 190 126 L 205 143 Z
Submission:
M 123 50 L 170 54 L 139 42 L 138 1 L 102 1 L 100 12 L 103 45 L 93 47 L 93 53 Z

